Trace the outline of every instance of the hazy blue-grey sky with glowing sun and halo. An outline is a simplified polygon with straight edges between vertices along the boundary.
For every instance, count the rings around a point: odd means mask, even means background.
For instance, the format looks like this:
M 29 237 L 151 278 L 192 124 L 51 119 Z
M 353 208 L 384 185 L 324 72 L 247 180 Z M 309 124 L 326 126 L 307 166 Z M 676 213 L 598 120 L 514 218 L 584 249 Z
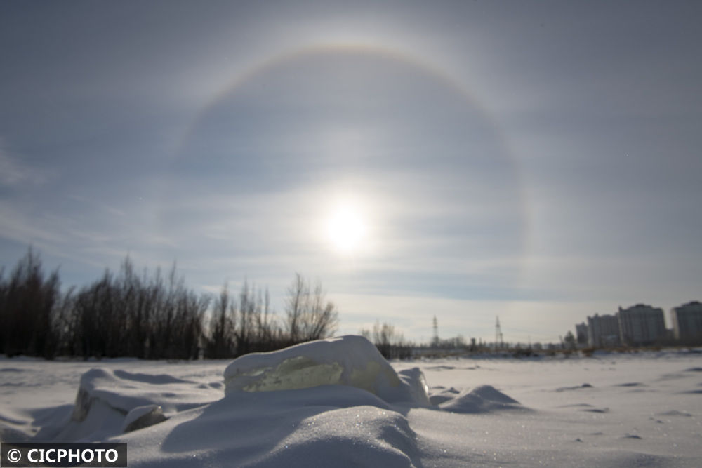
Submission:
M 0 265 L 321 281 L 339 333 L 702 299 L 698 1 L 4 1 Z

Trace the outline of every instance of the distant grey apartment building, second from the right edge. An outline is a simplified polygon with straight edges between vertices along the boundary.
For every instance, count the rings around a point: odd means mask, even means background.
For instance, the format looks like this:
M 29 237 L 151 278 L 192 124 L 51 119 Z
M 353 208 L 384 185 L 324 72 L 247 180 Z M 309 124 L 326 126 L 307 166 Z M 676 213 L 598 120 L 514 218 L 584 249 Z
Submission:
M 623 345 L 653 345 L 665 338 L 663 309 L 637 304 L 627 309 L 619 307 L 617 316 Z

